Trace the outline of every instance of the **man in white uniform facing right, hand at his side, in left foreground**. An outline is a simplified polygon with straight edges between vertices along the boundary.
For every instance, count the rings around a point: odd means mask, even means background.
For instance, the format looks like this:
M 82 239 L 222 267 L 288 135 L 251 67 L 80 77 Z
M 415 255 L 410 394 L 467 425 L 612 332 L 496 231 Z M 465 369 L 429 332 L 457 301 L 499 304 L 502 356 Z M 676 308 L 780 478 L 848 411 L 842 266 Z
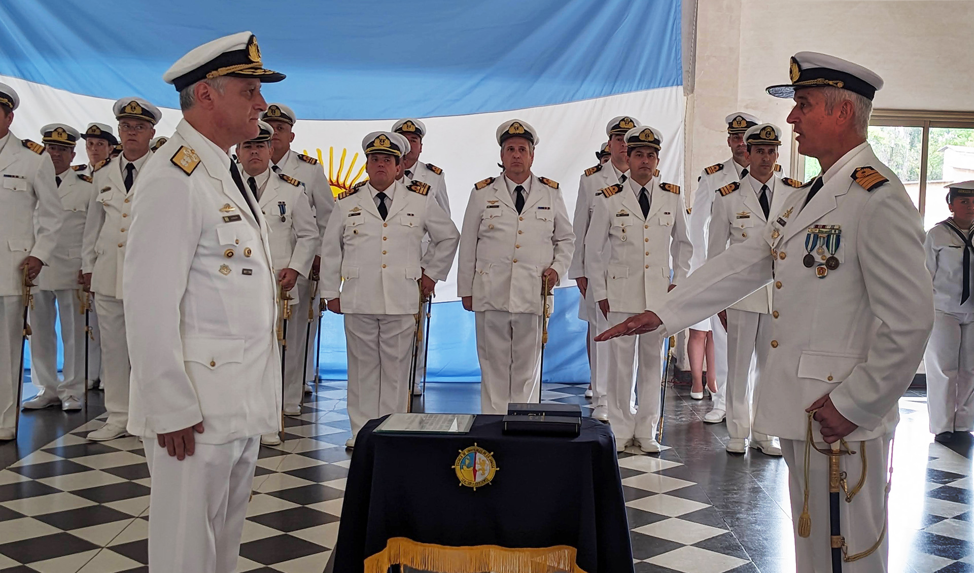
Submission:
M 261 82 L 283 74 L 240 32 L 163 79 L 183 120 L 144 165 L 132 208 L 129 430 L 152 473 L 149 569 L 232 573 L 260 435 L 281 424 L 281 362 L 268 228 L 229 152 L 257 134 Z

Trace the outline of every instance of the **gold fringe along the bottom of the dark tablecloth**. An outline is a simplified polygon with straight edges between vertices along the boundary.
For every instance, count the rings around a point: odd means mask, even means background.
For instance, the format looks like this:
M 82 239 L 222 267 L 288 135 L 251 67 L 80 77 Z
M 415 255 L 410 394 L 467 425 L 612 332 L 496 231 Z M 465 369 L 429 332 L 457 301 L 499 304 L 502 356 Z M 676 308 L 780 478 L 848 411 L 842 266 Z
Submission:
M 386 549 L 365 559 L 365 573 L 386 573 L 392 565 L 449 573 L 585 573 L 575 563 L 578 551 L 558 545 L 510 549 L 497 545 L 448 547 L 393 537 Z

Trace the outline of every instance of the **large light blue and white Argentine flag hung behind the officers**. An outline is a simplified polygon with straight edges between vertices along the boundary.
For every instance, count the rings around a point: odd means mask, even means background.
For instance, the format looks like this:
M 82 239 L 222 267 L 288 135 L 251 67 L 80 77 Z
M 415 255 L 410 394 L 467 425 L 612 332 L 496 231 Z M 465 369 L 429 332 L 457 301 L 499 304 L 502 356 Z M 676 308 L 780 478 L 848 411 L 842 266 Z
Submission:
M 679 0 L 21 0 L 0 3 L 0 81 L 19 92 L 20 138 L 39 140 L 52 122 L 116 125 L 111 105 L 130 95 L 163 109 L 156 131 L 168 136 L 180 114 L 163 72 L 204 42 L 251 30 L 265 65 L 287 74 L 263 93 L 297 114 L 293 149 L 319 150 L 324 169 L 354 177 L 366 133 L 421 118 L 421 161 L 445 170 L 459 228 L 473 184 L 499 174 L 494 132 L 512 118 L 538 129 L 533 171 L 561 183 L 569 213 L 618 115 L 663 135 L 662 178 L 683 186 L 680 16 Z M 436 287 L 429 378 L 479 381 L 455 276 Z M 543 377 L 587 381 L 578 290 L 566 277 L 561 287 Z M 341 318 L 326 313 L 322 376 L 344 379 L 345 369 Z

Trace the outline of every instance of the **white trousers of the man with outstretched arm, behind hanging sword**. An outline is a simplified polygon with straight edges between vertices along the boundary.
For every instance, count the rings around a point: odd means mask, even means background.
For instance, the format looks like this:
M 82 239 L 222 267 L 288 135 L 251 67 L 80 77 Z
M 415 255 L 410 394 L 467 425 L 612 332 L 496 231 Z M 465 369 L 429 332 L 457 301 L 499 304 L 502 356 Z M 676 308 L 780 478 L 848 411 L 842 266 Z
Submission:
M 892 434 L 861 442 L 850 442 L 855 455 L 843 455 L 840 469 L 846 473 L 849 487 L 859 482 L 862 461 L 861 448 L 866 450 L 866 482 L 851 503 L 840 493 L 840 531 L 848 546 L 848 555 L 855 555 L 873 547 L 880 538 L 886 521 L 884 500 L 889 477 L 889 441 Z M 820 448 L 827 445 L 819 443 Z M 811 535 L 798 535 L 798 519 L 805 499 L 805 441 L 781 440 L 781 453 L 788 464 L 788 491 L 791 495 L 792 531 L 795 532 L 796 573 L 830 573 L 832 548 L 829 529 L 829 458 L 812 449 L 808 467 L 808 515 Z M 857 561 L 843 562 L 843 573 L 885 573 L 889 554 L 889 535 L 882 539 L 876 552 Z

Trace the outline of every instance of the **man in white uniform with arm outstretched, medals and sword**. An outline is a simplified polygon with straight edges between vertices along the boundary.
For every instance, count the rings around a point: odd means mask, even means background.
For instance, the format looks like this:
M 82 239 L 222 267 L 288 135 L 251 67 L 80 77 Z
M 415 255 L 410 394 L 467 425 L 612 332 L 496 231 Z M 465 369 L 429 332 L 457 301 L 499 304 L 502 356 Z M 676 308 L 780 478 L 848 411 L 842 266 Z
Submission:
M 759 233 L 599 339 L 659 326 L 679 332 L 773 284 L 778 314 L 758 333 L 768 359 L 753 428 L 781 439 L 797 571 L 832 570 L 835 543 L 857 557 L 843 571 L 875 573 L 887 569 L 885 489 L 897 403 L 933 326 L 923 226 L 903 184 L 866 140 L 880 76 L 811 52 L 795 54 L 790 72 L 791 84 L 768 92 L 794 97 L 788 123 L 798 133 L 799 153 L 818 159 L 822 174 L 782 201 Z M 849 502 L 841 496 L 842 538 L 834 540 L 829 456 L 821 453 L 830 445 L 841 448 L 840 471 L 849 483 L 865 474 Z

